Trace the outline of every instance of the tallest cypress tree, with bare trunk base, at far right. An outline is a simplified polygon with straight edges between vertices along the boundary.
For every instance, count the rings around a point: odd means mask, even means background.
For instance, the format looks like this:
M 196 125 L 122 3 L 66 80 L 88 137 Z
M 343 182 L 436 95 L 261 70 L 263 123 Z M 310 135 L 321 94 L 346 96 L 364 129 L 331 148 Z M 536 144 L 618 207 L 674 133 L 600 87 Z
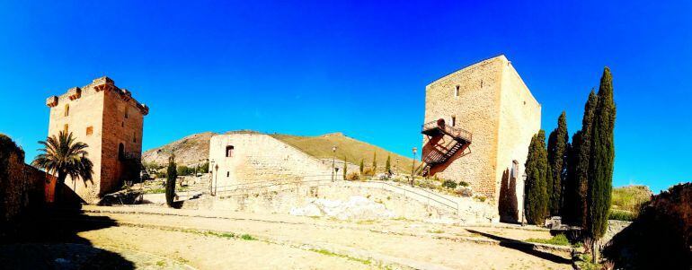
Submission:
M 610 69 L 603 69 L 600 78 L 598 105 L 593 118 L 591 135 L 591 159 L 589 166 L 589 222 L 588 233 L 593 240 L 599 240 L 608 229 L 613 188 L 613 164 L 615 161 L 616 105 L 613 100 L 613 78 Z M 594 241 L 595 242 L 595 241 Z M 594 251 L 594 261 L 597 250 Z

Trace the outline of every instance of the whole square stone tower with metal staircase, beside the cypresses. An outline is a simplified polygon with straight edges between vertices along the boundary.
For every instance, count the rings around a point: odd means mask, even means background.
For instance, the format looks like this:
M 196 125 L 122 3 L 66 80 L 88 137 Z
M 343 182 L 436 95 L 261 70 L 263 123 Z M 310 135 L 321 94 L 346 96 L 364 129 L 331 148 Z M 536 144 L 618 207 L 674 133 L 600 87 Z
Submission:
M 516 221 L 540 119 L 540 104 L 504 56 L 448 74 L 425 88 L 421 172 L 469 183 Z

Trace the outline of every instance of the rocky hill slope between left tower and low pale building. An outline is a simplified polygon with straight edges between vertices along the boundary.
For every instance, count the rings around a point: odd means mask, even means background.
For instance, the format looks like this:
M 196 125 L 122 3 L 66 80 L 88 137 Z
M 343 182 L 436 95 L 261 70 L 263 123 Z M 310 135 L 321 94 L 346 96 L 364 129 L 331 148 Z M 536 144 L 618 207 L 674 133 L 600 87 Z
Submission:
M 213 132 L 193 134 L 173 143 L 149 149 L 142 154 L 142 161 L 145 164 L 154 163 L 164 166 L 168 163 L 168 158 L 171 156 L 171 152 L 173 152 L 175 153 L 175 161 L 179 165 L 191 166 L 198 164 L 200 160 L 208 159 L 209 139 L 213 135 L 217 134 Z

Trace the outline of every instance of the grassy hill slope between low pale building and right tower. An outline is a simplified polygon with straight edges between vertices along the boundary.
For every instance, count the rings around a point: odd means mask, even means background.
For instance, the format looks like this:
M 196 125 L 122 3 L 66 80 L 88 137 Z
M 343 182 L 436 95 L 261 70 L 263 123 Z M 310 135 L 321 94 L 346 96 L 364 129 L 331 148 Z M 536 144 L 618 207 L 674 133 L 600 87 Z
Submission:
M 306 152 L 318 159 L 331 159 L 333 157 L 332 146 L 336 145 L 336 158 L 359 164 L 360 160 L 364 160 L 365 166 L 372 165 L 373 153 L 377 152 L 377 168 L 378 171 L 385 168 L 386 157 L 392 157 L 392 170 L 395 169 L 396 159 L 399 159 L 399 171 L 410 172 L 413 160 L 404 157 L 394 152 L 386 151 L 386 149 L 373 144 L 361 142 L 359 140 L 342 135 L 341 133 L 332 133 L 319 136 L 297 136 L 297 135 L 271 135 L 274 138 L 292 145 L 303 152 Z

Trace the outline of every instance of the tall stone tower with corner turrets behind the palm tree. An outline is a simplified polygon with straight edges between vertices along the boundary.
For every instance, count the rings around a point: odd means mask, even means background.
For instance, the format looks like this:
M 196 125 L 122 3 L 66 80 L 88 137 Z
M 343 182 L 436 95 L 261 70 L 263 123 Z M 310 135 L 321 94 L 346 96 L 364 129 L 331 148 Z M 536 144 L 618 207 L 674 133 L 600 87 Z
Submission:
M 82 179 L 66 185 L 85 202 L 121 187 L 124 180 L 138 179 L 141 169 L 142 127 L 149 109 L 120 89 L 109 77 L 101 77 L 60 96 L 46 100 L 50 108 L 49 136 L 67 131 L 76 141 L 89 145 L 93 182 Z

